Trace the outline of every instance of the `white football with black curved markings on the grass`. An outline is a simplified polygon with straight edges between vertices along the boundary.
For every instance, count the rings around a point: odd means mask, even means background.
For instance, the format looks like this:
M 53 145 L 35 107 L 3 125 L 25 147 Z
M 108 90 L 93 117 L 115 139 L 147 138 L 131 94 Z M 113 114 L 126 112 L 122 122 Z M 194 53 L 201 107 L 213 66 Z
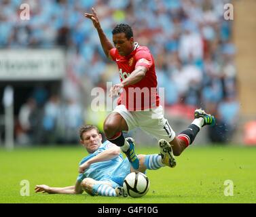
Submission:
M 130 197 L 143 197 L 149 191 L 149 178 L 141 172 L 131 172 L 124 179 L 123 187 Z

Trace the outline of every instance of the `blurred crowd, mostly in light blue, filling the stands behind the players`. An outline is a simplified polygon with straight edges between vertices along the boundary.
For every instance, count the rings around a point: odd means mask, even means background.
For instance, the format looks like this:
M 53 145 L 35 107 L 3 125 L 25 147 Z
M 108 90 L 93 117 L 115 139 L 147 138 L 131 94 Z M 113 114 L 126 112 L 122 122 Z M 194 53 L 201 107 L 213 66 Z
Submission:
M 227 142 L 231 138 L 239 102 L 232 20 L 223 18 L 223 5 L 229 1 L 27 0 L 31 19 L 26 21 L 19 18 L 22 3 L 0 2 L 0 46 L 61 46 L 67 52 L 65 106 L 59 96 L 45 100 L 40 133 L 50 132 L 48 135 L 54 137 L 55 129 L 68 135 L 65 126 L 75 129 L 87 121 L 82 114 L 85 94 L 90 94 L 92 87 L 105 88 L 107 81 L 119 82 L 117 67 L 105 58 L 92 22 L 84 18 L 84 13 L 94 7 L 109 39 L 113 27 L 124 22 L 132 26 L 134 40 L 151 50 L 158 86 L 165 87 L 166 115 L 192 119 L 194 109 L 202 107 L 217 117 L 217 126 L 209 130 L 211 141 Z M 20 109 L 23 128 L 27 123 L 22 117 L 33 111 L 34 100 L 29 98 Z M 62 118 L 57 119 L 58 115 Z

